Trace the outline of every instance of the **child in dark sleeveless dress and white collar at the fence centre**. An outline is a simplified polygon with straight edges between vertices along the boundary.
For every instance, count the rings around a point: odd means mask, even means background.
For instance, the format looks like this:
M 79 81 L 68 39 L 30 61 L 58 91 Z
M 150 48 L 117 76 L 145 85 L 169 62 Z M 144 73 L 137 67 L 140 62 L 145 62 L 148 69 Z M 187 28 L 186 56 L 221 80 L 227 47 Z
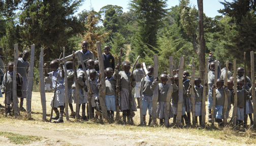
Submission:
M 129 104 L 129 80 L 130 78 L 132 78 L 132 84 L 130 88 L 134 88 L 136 85 L 136 80 L 134 78 L 134 74 L 131 73 L 129 70 L 131 69 L 131 63 L 129 61 L 123 61 L 121 63 L 122 65 L 122 69 L 124 71 L 119 71 L 119 75 L 120 75 L 120 85 L 117 86 L 116 88 L 120 87 L 120 95 L 119 95 L 119 106 L 120 106 L 120 111 L 122 111 L 122 117 L 123 117 L 123 122 L 126 123 L 126 116 L 127 116 L 127 122 L 130 124 L 133 124 L 133 118 L 132 118 L 132 114 L 131 111 L 137 111 L 137 107 L 136 107 L 136 102 L 135 99 L 132 96 L 132 101 L 131 101 L 131 106 Z M 119 66 L 117 65 L 116 68 L 119 68 Z M 114 74 L 114 80 L 116 80 L 116 75 Z M 130 110 L 130 108 L 132 110 Z

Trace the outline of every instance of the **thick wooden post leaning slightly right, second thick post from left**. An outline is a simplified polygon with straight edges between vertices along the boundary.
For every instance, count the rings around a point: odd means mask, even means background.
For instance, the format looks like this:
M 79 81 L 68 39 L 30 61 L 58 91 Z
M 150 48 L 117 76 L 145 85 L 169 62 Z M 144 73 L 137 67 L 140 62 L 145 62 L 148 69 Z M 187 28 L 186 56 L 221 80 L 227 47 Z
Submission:
M 33 88 L 33 77 L 34 77 L 34 59 L 35 58 L 35 45 L 30 46 L 30 63 L 28 69 L 27 79 L 27 98 L 26 98 L 26 112 L 28 116 L 31 116 L 31 99 L 32 99 L 32 88 Z

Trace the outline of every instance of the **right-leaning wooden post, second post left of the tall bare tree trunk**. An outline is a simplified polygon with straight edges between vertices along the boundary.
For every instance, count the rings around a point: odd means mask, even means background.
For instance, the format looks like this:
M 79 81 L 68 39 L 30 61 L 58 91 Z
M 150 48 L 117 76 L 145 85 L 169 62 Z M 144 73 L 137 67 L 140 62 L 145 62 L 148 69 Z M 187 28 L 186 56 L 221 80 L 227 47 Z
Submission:
M 177 125 L 181 123 L 182 116 L 182 106 L 183 106 L 183 67 L 185 62 L 185 55 L 180 57 L 179 64 L 179 100 L 178 100 L 178 109 L 177 109 Z

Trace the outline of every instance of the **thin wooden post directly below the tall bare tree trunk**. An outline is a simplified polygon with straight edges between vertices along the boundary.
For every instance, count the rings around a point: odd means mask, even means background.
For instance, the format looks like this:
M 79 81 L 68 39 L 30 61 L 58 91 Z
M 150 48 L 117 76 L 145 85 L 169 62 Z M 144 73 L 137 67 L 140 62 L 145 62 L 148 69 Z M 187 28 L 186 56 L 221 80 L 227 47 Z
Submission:
M 207 74 L 208 61 L 209 61 L 209 58 L 206 58 L 206 60 L 205 60 L 205 76 L 204 76 L 204 82 L 203 82 L 204 88 L 203 88 L 203 96 L 202 96 L 202 123 L 201 123 L 201 126 L 205 126 L 205 115 L 206 115 L 205 100 L 206 100 L 206 88 L 207 88 L 205 86 L 205 84 L 208 82 L 208 74 Z

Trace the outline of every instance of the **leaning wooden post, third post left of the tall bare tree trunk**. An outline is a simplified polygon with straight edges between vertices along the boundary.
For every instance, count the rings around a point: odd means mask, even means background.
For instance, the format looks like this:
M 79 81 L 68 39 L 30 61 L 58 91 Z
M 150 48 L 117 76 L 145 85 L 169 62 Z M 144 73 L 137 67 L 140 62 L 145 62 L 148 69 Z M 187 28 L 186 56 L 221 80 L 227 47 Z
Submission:
M 170 64 L 170 67 L 169 67 L 170 77 L 172 77 L 173 76 L 173 65 L 174 65 L 173 64 L 173 56 L 170 56 L 169 64 Z M 172 106 L 171 105 L 172 93 L 173 93 L 173 87 L 172 87 L 172 84 L 170 83 L 169 89 L 167 91 L 167 98 L 166 98 L 166 111 L 165 111 L 165 126 L 166 127 L 168 127 L 168 125 L 169 125 L 170 107 Z

